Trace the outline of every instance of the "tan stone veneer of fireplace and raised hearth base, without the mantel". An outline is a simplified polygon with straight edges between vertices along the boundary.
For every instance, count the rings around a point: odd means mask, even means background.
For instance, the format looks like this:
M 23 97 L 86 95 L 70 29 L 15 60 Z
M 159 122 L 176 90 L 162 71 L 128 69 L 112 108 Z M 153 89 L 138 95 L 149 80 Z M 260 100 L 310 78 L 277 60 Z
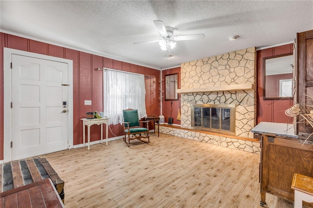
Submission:
M 255 47 L 182 63 L 180 66 L 180 89 L 191 89 L 191 92 L 180 94 L 180 126 L 191 129 L 191 104 L 236 104 L 236 136 L 242 137 L 243 140 L 234 139 L 231 136 L 212 135 L 210 132 L 199 133 L 166 126 L 160 126 L 160 132 L 209 144 L 259 153 L 260 145 L 258 142 L 252 142 L 253 133 L 250 132 L 256 124 L 255 89 L 237 89 L 237 86 L 240 84 L 251 83 L 254 86 L 256 83 L 255 69 Z M 236 90 L 214 91 L 216 86 L 226 85 L 234 85 Z

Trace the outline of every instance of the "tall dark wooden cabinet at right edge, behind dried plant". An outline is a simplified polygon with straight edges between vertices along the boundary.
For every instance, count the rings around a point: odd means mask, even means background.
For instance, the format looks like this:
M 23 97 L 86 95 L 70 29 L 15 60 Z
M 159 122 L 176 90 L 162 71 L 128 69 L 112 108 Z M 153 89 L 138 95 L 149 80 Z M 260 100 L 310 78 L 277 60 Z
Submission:
M 313 96 L 313 30 L 297 33 L 295 43 L 295 102 L 304 108 L 313 105 L 313 98 L 308 97 Z M 313 132 L 312 126 L 305 122 L 298 122 L 297 128 L 300 139 L 306 139 Z

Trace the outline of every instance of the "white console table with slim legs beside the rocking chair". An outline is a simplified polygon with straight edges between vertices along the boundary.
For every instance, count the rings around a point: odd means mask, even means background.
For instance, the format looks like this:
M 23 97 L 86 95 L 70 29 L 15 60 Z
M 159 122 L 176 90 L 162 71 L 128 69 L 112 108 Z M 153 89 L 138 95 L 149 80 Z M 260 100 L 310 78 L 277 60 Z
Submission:
M 88 149 L 90 149 L 90 126 L 91 125 L 101 125 L 101 143 L 103 139 L 103 124 L 106 125 L 106 143 L 108 146 L 108 125 L 109 125 L 109 118 L 101 118 L 101 119 L 81 119 L 83 121 L 83 146 L 85 146 L 85 126 L 88 127 Z

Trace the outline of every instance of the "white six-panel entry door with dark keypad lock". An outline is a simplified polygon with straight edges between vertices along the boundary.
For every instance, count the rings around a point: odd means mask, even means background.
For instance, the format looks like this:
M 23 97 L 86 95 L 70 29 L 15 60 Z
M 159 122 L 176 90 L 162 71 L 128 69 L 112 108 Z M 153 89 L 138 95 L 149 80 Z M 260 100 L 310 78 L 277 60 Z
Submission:
M 67 67 L 12 54 L 12 160 L 67 149 Z

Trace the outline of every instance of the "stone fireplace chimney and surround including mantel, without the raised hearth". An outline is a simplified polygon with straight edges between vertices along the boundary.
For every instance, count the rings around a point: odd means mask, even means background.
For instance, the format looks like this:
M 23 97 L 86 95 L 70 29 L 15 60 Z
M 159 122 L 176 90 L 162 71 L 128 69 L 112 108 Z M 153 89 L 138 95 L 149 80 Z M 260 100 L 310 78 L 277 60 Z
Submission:
M 191 126 L 193 104 L 235 104 L 235 136 L 253 138 L 256 123 L 256 49 L 181 64 L 181 127 Z

